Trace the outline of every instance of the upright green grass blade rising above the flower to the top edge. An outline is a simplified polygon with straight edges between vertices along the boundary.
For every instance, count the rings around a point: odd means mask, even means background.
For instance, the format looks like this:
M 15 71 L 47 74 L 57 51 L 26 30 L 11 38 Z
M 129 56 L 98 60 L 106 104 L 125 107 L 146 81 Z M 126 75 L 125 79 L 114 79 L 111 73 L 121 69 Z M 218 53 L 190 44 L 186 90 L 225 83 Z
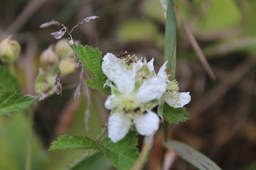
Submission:
M 176 3 L 169 0 L 166 11 L 166 30 L 164 40 L 164 58 L 168 60 L 167 73 L 171 74 L 171 80 L 176 74 Z

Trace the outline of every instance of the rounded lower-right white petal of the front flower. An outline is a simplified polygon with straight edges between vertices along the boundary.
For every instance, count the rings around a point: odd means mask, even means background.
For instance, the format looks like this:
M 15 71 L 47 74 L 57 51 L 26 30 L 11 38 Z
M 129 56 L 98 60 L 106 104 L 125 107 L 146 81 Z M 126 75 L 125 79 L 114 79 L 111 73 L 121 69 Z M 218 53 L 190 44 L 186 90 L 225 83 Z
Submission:
M 134 115 L 134 124 L 140 135 L 153 135 L 159 129 L 159 117 L 152 111 Z

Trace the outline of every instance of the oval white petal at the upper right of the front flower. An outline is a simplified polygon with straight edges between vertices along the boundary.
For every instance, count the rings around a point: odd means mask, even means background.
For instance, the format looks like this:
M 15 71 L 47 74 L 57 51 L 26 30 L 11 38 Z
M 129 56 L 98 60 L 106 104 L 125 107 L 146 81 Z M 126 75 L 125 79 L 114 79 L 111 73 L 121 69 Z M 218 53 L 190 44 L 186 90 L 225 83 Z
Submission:
M 137 98 L 139 102 L 147 103 L 155 99 L 160 99 L 165 91 L 165 79 L 162 79 L 161 77 L 153 77 L 151 79 L 146 79 L 142 86 L 139 87 Z

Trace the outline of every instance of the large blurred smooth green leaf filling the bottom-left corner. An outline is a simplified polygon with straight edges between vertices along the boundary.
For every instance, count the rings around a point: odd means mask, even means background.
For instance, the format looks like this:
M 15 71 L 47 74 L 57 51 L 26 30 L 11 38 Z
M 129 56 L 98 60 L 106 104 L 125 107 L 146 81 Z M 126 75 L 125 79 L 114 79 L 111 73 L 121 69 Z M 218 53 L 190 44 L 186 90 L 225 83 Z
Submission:
M 48 169 L 49 155 L 32 131 L 25 114 L 0 119 L 0 169 L 26 169 L 28 157 L 31 170 Z

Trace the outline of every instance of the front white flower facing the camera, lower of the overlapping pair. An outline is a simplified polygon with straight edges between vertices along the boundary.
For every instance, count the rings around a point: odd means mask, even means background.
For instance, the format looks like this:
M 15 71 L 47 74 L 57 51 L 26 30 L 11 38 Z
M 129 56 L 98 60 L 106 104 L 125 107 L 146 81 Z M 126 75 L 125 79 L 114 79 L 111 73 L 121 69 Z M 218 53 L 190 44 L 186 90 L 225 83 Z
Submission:
M 150 102 L 163 96 L 166 91 L 165 81 L 153 77 L 144 81 L 139 90 L 135 91 L 135 81 L 126 81 L 130 79 L 127 76 L 129 75 L 122 76 L 123 81 L 116 81 L 118 93 L 112 93 L 105 101 L 105 107 L 112 110 L 108 121 L 108 137 L 112 142 L 122 140 L 129 132 L 132 122 L 140 135 L 153 135 L 159 128 L 159 116 L 150 111 L 156 104 Z M 118 87 L 122 88 L 119 90 Z

